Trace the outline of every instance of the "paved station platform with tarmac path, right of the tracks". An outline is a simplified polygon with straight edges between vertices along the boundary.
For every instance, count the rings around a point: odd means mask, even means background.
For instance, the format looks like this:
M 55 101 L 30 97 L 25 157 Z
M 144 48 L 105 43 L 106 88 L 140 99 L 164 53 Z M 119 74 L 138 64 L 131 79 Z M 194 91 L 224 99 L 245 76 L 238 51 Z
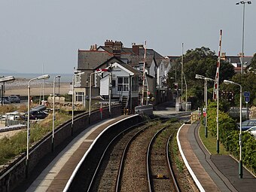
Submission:
M 199 121 L 182 126 L 177 138 L 200 190 L 256 191 L 254 175 L 243 168 L 243 178 L 239 178 L 238 162 L 233 157 L 209 154 L 199 138 L 199 126 Z

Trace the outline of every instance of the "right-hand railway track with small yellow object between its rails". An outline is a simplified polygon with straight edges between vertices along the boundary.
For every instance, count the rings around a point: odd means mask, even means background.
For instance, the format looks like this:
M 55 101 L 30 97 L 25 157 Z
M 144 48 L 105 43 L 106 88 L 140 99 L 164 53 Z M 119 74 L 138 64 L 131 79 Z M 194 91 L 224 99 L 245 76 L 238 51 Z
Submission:
M 180 191 L 169 158 L 169 140 L 175 130 L 167 129 L 170 129 L 170 126 L 164 126 L 155 133 L 148 145 L 148 191 Z

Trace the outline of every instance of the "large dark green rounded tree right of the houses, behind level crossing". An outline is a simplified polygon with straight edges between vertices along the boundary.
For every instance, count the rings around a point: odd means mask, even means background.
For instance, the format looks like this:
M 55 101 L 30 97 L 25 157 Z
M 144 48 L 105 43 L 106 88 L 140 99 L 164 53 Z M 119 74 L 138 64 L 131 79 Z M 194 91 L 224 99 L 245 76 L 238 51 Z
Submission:
M 196 75 L 203 75 L 207 78 L 215 79 L 216 66 L 217 66 L 218 56 L 215 52 L 210 50 L 208 47 L 196 48 L 195 50 L 187 50 L 187 53 L 183 56 L 183 72 L 187 81 L 187 93 L 193 96 L 193 100 L 199 99 L 198 104 L 203 103 L 203 87 L 204 82 L 197 80 Z M 235 75 L 233 66 L 229 62 L 224 62 L 221 60 L 221 68 L 219 81 L 222 82 L 224 79 L 230 79 Z M 173 78 L 176 78 L 181 85 L 181 56 L 176 59 L 176 62 L 172 64 L 171 69 L 168 74 L 168 83 L 173 83 Z M 169 84 L 172 87 L 171 84 Z M 209 89 L 212 89 L 214 83 L 209 81 Z M 184 87 L 184 86 L 183 86 Z M 197 107 L 197 106 L 195 106 Z

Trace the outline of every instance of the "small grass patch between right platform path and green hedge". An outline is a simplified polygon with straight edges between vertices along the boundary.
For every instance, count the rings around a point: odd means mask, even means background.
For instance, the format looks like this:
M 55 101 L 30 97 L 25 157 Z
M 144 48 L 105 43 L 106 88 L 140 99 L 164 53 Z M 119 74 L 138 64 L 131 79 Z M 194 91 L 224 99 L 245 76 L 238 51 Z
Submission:
M 208 132 L 208 137 L 205 136 L 205 126 L 200 126 L 199 135 L 203 142 L 203 145 L 206 146 L 207 150 L 211 154 L 217 154 L 217 144 L 216 144 L 216 137 L 212 136 L 211 133 Z M 219 145 L 219 154 L 230 154 L 229 151 L 226 151 L 224 146 L 221 144 Z

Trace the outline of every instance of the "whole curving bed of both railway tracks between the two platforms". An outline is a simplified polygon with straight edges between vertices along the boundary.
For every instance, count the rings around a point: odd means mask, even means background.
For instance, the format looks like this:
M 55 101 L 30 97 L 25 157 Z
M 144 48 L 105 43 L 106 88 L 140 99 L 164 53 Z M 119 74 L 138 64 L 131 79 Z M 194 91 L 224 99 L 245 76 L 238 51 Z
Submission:
M 169 140 L 181 123 L 166 121 L 139 123 L 114 136 L 102 154 L 95 151 L 94 159 L 86 160 L 69 191 L 180 191 Z

